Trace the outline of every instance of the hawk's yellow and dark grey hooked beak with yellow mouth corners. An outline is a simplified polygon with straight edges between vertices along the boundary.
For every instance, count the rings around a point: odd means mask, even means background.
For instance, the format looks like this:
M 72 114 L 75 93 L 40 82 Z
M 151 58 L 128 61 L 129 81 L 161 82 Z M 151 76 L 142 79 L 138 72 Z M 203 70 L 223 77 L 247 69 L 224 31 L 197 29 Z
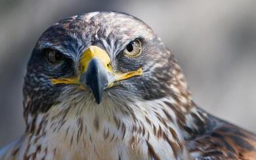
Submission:
M 100 104 L 102 101 L 104 89 L 112 87 L 114 82 L 129 79 L 136 75 L 142 75 L 141 68 L 137 71 L 129 71 L 127 73 L 114 73 L 111 67 L 110 57 L 105 50 L 97 46 L 89 46 L 83 52 L 80 59 L 80 70 L 81 74 L 79 77 L 51 79 L 51 82 L 53 85 L 60 83 L 83 85 L 91 89 L 97 104 Z

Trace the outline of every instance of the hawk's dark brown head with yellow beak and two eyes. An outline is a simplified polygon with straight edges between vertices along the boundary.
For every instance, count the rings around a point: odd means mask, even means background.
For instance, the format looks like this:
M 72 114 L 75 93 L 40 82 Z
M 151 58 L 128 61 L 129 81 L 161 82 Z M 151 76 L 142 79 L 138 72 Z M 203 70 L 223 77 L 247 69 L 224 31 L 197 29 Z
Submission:
M 138 18 L 117 12 L 72 16 L 48 28 L 33 49 L 24 115 L 81 96 L 85 106 L 163 98 L 173 94 L 178 73 L 173 54 Z

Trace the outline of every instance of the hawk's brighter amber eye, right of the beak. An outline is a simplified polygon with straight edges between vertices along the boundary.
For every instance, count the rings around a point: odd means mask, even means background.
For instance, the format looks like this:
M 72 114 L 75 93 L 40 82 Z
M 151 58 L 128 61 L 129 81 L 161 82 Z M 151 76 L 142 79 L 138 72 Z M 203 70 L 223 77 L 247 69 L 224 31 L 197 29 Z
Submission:
M 131 41 L 123 50 L 126 56 L 129 56 L 131 58 L 135 58 L 140 55 L 141 53 L 141 43 L 139 39 L 135 39 L 134 41 Z

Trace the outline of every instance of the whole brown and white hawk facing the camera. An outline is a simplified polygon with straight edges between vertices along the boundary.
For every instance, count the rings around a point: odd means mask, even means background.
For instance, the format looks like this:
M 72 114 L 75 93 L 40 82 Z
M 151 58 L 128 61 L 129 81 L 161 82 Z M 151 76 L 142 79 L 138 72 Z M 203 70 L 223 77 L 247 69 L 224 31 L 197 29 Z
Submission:
M 198 107 L 141 20 L 90 12 L 37 41 L 24 78 L 26 131 L 1 159 L 256 159 L 256 136 Z

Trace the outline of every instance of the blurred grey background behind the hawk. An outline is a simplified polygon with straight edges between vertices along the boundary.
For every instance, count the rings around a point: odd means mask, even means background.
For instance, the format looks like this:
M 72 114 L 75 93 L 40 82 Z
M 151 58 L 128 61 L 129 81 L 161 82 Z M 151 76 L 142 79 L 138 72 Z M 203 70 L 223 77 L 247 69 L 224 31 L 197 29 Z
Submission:
M 22 82 L 35 42 L 62 18 L 137 16 L 175 53 L 203 109 L 256 132 L 256 1 L 0 1 L 0 148 L 24 132 Z

